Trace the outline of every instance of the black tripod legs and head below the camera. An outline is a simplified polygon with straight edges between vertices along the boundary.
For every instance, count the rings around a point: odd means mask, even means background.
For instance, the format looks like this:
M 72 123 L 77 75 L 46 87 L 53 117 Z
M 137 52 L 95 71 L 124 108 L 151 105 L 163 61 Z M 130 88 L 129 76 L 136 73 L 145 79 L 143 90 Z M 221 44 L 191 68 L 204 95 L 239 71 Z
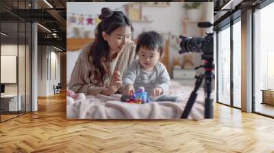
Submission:
M 203 67 L 205 69 L 205 73 L 195 77 L 197 79 L 195 82 L 195 88 L 191 92 L 190 98 L 188 98 L 188 102 L 181 116 L 181 118 L 184 118 L 184 119 L 188 118 L 188 115 L 192 109 L 192 106 L 194 105 L 194 102 L 197 98 L 197 91 L 199 87 L 201 86 L 201 83 L 204 78 L 206 79 L 206 84 L 204 88 L 205 94 L 206 94 L 205 118 L 213 118 L 213 107 L 212 107 L 213 99 L 210 98 L 210 94 L 212 92 L 212 87 L 211 87 L 211 81 L 213 77 L 212 70 L 214 69 L 214 65 L 212 64 L 213 57 L 212 55 L 202 55 L 202 59 L 205 59 L 205 64 L 203 66 L 199 66 L 198 68 Z M 195 69 L 198 69 L 198 68 L 195 68 Z

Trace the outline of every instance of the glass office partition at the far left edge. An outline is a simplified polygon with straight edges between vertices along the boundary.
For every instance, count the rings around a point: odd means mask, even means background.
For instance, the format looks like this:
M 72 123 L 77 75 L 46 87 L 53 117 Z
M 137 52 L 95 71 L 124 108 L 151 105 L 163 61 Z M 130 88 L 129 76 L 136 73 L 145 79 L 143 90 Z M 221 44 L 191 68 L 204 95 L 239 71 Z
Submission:
M 13 1 L 14 11 L 25 9 L 31 1 Z M 3 2 L 4 3 L 4 2 Z M 8 1 L 6 2 L 8 3 Z M 0 122 L 31 111 L 31 23 L 0 8 L 1 86 Z M 7 60 L 8 59 L 8 60 Z M 10 67 L 7 67 L 10 66 Z M 10 75 L 7 69 L 10 68 Z M 8 71 L 9 72 L 9 71 Z

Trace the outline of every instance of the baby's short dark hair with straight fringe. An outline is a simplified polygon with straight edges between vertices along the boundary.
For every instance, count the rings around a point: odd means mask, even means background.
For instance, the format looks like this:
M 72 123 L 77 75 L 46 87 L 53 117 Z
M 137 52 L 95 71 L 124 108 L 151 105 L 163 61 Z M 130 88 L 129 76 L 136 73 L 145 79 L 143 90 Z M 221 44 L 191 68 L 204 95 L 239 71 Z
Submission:
M 155 31 L 143 32 L 140 34 L 140 36 L 138 36 L 137 39 L 137 54 L 141 47 L 149 50 L 158 49 L 158 51 L 160 52 L 160 57 L 162 57 L 162 53 L 164 52 L 164 38 L 160 33 L 157 33 Z

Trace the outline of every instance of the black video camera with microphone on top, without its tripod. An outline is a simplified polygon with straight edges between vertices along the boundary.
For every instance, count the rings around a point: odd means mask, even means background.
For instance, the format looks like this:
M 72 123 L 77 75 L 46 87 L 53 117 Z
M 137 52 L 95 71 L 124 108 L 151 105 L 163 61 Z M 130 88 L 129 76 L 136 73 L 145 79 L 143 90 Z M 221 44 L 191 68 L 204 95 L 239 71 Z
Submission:
M 198 27 L 211 27 L 212 23 L 199 22 Z M 203 53 L 201 59 L 213 60 L 213 33 L 206 33 L 203 38 L 192 38 L 179 36 L 182 39 L 180 43 L 181 50 L 179 54 L 187 52 Z

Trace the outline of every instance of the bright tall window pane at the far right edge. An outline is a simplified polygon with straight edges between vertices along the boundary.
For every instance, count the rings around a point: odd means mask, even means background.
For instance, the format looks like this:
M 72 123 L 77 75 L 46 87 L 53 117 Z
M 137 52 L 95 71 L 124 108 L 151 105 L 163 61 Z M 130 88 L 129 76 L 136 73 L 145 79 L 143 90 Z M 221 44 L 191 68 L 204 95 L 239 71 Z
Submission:
M 274 106 L 264 102 L 262 91 L 274 88 L 273 14 L 274 3 L 254 13 L 254 107 L 257 113 L 271 116 L 274 116 Z

